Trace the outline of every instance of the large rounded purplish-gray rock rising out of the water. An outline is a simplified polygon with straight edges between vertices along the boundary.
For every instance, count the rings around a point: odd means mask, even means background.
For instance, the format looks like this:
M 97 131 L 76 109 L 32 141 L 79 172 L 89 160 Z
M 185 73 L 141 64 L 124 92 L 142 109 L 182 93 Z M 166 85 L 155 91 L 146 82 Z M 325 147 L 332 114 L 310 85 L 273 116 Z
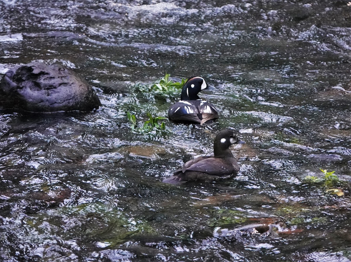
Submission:
M 0 82 L 0 105 L 32 112 L 91 111 L 101 105 L 88 83 L 60 65 L 32 62 L 8 70 Z

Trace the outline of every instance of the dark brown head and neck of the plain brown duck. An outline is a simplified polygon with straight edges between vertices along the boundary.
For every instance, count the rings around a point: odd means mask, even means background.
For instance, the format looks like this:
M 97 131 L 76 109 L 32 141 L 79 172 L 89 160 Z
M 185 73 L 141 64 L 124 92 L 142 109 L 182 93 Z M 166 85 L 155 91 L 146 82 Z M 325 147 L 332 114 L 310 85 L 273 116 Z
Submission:
M 225 129 L 218 132 L 213 142 L 214 157 L 233 157 L 232 151 L 229 149 L 233 144 L 245 144 L 245 142 L 239 140 L 233 130 Z

